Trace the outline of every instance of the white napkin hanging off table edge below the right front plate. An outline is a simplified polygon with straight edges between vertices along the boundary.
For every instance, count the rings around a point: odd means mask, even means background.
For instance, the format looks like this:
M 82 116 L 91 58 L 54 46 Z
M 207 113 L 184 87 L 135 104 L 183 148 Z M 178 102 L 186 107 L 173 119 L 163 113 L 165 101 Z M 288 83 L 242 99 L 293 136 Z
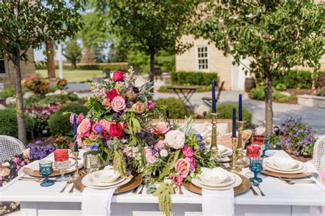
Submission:
M 234 215 L 234 189 L 223 191 L 202 189 L 202 212 L 204 216 Z

